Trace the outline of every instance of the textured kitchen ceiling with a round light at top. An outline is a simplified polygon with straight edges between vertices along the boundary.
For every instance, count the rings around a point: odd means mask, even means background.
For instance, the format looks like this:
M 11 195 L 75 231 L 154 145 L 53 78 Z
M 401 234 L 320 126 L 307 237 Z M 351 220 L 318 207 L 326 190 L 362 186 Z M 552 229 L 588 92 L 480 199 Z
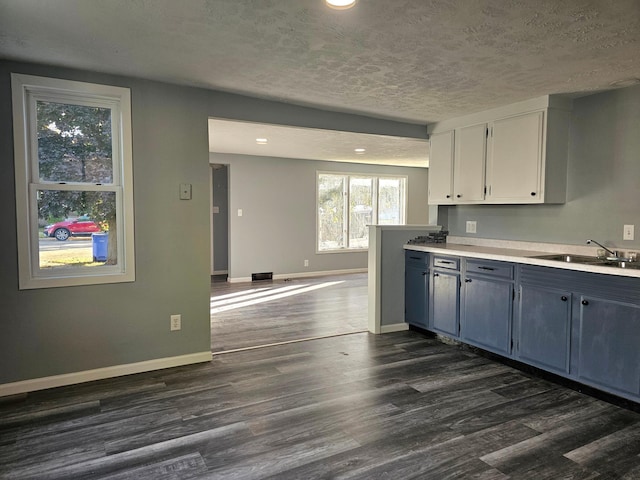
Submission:
M 426 124 L 640 78 L 640 1 L 0 0 L 0 58 Z

